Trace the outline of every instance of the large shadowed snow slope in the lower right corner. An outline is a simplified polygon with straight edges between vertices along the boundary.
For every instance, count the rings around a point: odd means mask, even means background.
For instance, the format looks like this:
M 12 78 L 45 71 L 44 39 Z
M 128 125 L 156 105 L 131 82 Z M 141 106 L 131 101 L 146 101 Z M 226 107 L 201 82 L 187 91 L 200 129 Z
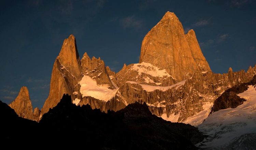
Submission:
M 197 144 L 201 148 L 208 149 L 241 149 L 243 142 L 254 137 L 256 134 L 256 88 L 249 88 L 238 96 L 246 99 L 242 105 L 236 108 L 222 109 L 213 112 L 205 121 L 198 126 L 199 130 L 208 137 Z M 248 136 L 250 134 L 250 136 Z M 247 140 L 244 140 L 244 138 Z M 239 140 L 240 139 L 240 140 Z M 255 142 L 246 144 L 247 149 L 254 147 Z

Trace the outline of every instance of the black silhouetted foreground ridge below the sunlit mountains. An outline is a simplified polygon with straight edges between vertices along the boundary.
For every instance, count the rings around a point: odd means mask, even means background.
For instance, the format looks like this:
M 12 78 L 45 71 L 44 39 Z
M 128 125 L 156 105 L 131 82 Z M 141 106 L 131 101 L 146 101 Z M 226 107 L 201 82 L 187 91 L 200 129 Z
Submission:
M 16 131 L 23 132 L 20 125 L 28 128 L 24 131 L 27 134 L 17 132 L 8 138 L 1 134 L 2 141 L 7 142 L 36 139 L 46 145 L 60 144 L 58 141 L 61 141 L 62 146 L 80 145 L 93 149 L 198 149 L 194 144 L 204 138 L 194 126 L 171 123 L 152 115 L 145 103 L 129 104 L 117 112 L 103 113 L 99 109 L 91 109 L 89 105 L 75 106 L 71 96 L 63 95 L 58 105 L 44 114 L 39 123 L 18 117 L 7 105 L 2 109 L 2 104 L 1 115 L 10 114 L 13 117 L 8 118 L 22 120 L 14 125 Z M 11 124 L 12 119 L 5 119 L 7 122 L 3 124 Z M 6 131 L 11 128 L 5 125 Z M 30 131 L 30 128 L 33 130 Z M 24 136 L 27 138 L 22 138 Z

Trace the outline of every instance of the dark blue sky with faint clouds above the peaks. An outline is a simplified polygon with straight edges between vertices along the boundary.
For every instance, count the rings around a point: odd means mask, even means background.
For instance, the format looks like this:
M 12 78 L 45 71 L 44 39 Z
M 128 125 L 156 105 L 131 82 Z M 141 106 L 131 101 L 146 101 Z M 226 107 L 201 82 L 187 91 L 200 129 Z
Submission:
M 116 72 L 138 63 L 143 37 L 167 11 L 195 30 L 213 72 L 247 70 L 256 63 L 255 8 L 255 0 L 1 1 L 0 100 L 11 103 L 27 86 L 33 107 L 42 108 L 70 34 L 80 57 L 101 57 Z

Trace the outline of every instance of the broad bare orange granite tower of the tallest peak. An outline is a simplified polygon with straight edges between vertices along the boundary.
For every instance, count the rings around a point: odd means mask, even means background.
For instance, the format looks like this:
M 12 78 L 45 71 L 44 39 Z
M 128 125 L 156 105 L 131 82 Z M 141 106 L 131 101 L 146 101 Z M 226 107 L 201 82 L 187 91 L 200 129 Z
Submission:
M 211 71 L 194 30 L 185 35 L 181 22 L 170 12 L 144 37 L 139 63 L 142 62 L 166 69 L 177 82 L 196 71 Z

